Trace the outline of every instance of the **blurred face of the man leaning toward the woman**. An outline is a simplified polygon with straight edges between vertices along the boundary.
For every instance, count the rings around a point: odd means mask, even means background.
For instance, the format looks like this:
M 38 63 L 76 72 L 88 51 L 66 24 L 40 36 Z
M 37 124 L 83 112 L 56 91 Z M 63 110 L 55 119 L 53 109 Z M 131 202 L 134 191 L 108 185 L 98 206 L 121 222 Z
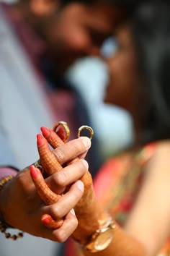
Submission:
M 99 55 L 105 38 L 112 35 L 122 12 L 107 4 L 68 4 L 42 31 L 61 71 L 82 56 Z

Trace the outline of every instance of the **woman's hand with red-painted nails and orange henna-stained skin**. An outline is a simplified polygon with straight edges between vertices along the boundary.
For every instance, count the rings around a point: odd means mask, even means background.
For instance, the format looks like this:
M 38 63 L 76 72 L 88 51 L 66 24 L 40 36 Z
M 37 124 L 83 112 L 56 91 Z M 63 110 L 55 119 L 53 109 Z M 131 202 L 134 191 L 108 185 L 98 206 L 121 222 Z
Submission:
M 44 137 L 42 137 L 42 135 Z M 62 140 L 58 140 L 58 135 L 56 135 L 56 133 L 51 129 L 43 127 L 42 135 L 37 135 L 37 148 L 40 154 L 40 163 L 45 169 L 46 174 L 51 175 L 56 171 L 60 173 L 62 166 L 58 163 L 58 159 L 53 154 L 53 151 L 50 150 L 48 143 L 52 146 L 52 148 L 58 147 L 58 145 L 64 143 Z M 89 139 L 86 138 L 86 140 Z M 77 148 L 75 145 L 75 140 L 68 143 L 73 143 L 73 147 Z M 71 166 L 74 164 L 79 164 L 82 153 L 79 152 L 78 155 L 79 157 L 71 158 L 70 161 L 66 163 L 69 168 L 70 164 Z M 71 175 L 73 175 L 73 171 L 71 171 Z M 55 193 L 57 193 L 56 191 L 53 189 L 52 191 L 50 188 L 48 188 L 42 176 L 40 180 L 37 180 L 34 179 L 34 176 L 32 175 L 32 179 L 35 182 L 35 187 L 37 187 L 37 192 L 46 204 L 50 205 L 50 203 L 54 203 L 58 200 L 58 198 L 60 198 L 60 195 L 55 195 Z M 88 237 L 91 236 L 91 234 L 94 234 L 99 227 L 102 227 L 105 225 L 105 223 L 107 223 L 108 215 L 101 207 L 99 202 L 97 202 L 95 199 L 91 174 L 89 171 L 86 171 L 86 173 L 81 177 L 81 182 L 84 183 L 84 195 L 74 208 L 76 217 L 79 220 L 79 226 L 76 231 L 73 232 L 72 237 L 77 241 L 79 240 L 81 244 L 86 244 Z M 60 219 L 58 223 L 58 220 L 50 215 L 42 216 L 42 222 L 50 229 L 57 229 L 58 226 L 62 225 L 61 221 L 62 220 Z

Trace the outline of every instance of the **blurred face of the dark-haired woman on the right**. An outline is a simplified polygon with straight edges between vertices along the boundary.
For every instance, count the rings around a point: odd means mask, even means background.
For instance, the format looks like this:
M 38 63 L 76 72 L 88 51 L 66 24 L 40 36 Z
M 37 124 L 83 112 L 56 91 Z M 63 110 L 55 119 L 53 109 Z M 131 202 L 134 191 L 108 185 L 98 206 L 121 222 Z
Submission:
M 121 25 L 115 33 L 117 50 L 107 59 L 109 82 L 106 89 L 106 103 L 112 103 L 132 113 L 138 100 L 137 57 L 130 24 Z

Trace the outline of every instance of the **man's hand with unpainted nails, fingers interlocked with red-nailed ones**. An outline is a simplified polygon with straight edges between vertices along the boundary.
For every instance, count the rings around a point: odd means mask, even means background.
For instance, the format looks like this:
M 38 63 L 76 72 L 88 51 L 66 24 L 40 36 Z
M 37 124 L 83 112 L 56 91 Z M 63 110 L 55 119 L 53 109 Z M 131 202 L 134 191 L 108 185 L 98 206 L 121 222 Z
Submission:
M 79 154 L 85 154 L 89 147 L 89 139 L 81 137 L 53 150 L 53 154 L 63 165 Z M 32 182 L 30 168 L 24 168 L 1 189 L 0 212 L 4 221 L 35 236 L 57 242 L 65 241 L 78 224 L 72 209 L 83 195 L 84 184 L 79 179 L 84 176 L 87 168 L 86 161 L 80 160 L 45 179 L 48 187 L 58 194 L 69 186 L 66 194 L 52 205 L 44 204 Z M 40 179 L 40 173 L 36 172 L 36 168 L 31 167 L 31 170 L 35 174 L 35 179 Z M 63 219 L 60 229 L 48 229 L 43 225 L 41 216 L 47 213 L 55 219 Z

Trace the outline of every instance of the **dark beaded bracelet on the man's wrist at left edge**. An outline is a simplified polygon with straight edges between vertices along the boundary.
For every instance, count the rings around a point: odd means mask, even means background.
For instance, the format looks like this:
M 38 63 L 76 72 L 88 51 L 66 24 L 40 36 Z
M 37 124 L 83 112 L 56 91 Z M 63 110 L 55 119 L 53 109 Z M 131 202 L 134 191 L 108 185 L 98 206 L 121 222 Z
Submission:
M 6 184 L 10 180 L 12 180 L 12 178 L 13 178 L 13 176 L 9 175 L 9 176 L 6 176 L 4 179 L 0 180 L 0 192 L 1 192 L 1 189 L 4 187 L 4 184 Z M 12 228 L 12 227 L 9 226 L 7 223 L 5 223 L 5 221 L 0 220 L 0 231 L 1 231 L 1 233 L 4 233 L 4 236 L 7 239 L 17 240 L 18 238 L 22 238 L 24 235 L 22 232 L 12 235 L 12 234 L 6 232 L 7 228 Z

